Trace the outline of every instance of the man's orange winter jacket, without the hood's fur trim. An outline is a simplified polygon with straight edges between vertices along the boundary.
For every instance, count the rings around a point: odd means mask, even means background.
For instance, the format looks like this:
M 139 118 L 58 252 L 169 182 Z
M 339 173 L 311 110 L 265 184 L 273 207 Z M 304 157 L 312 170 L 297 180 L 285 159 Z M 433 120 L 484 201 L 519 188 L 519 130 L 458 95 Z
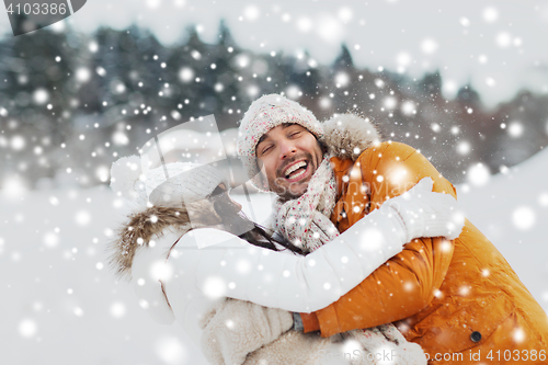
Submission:
M 354 162 L 333 158 L 342 232 L 387 198 L 431 176 L 456 190 L 413 148 L 383 142 Z M 415 239 L 336 303 L 301 315 L 322 337 L 393 322 L 430 364 L 548 364 L 548 317 L 496 248 L 470 221 L 453 242 Z

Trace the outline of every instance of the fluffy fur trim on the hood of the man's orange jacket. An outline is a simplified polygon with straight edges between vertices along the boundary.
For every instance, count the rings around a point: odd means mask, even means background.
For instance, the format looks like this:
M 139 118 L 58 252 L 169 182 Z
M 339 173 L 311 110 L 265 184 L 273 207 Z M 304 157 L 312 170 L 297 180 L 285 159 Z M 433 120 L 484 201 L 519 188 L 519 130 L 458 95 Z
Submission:
M 336 114 L 323 123 L 321 139 L 332 156 L 356 160 L 367 148 L 380 142 L 380 133 L 369 118 Z

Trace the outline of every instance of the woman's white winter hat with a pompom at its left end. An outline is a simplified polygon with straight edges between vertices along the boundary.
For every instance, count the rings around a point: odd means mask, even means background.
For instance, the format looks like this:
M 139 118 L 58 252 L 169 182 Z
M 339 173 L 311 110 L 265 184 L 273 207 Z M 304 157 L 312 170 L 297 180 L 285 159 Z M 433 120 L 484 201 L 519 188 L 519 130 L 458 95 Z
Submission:
M 193 203 L 205 199 L 220 183 L 230 187 L 222 173 L 208 166 L 173 162 L 142 172 L 140 158 L 124 157 L 112 164 L 111 189 L 138 204 Z

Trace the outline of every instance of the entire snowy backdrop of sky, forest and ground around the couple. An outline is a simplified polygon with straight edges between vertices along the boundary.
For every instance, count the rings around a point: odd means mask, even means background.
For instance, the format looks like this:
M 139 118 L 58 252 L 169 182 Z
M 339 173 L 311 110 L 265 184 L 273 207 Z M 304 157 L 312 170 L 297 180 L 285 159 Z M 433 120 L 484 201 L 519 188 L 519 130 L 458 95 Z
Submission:
M 19 37 L 0 16 L 2 363 L 205 363 L 114 282 L 124 207 L 104 183 L 191 117 L 232 138 L 265 92 L 320 118 L 359 110 L 420 148 L 548 310 L 547 32 L 532 0 L 93 0 Z M 253 198 L 261 221 L 270 198 Z

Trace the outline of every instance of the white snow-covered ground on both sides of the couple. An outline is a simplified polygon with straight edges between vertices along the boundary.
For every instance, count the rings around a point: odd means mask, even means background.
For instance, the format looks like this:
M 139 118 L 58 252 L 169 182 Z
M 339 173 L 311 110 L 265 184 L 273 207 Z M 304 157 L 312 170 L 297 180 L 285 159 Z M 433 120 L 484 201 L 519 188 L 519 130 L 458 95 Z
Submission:
M 480 187 L 458 186 L 468 218 L 548 310 L 548 150 Z M 467 192 L 466 192 L 467 191 Z M 238 197 L 243 203 L 243 197 Z M 254 197 L 261 221 L 269 195 Z M 0 192 L 2 364 L 205 364 L 178 326 L 153 322 L 106 266 L 123 208 L 106 186 Z

